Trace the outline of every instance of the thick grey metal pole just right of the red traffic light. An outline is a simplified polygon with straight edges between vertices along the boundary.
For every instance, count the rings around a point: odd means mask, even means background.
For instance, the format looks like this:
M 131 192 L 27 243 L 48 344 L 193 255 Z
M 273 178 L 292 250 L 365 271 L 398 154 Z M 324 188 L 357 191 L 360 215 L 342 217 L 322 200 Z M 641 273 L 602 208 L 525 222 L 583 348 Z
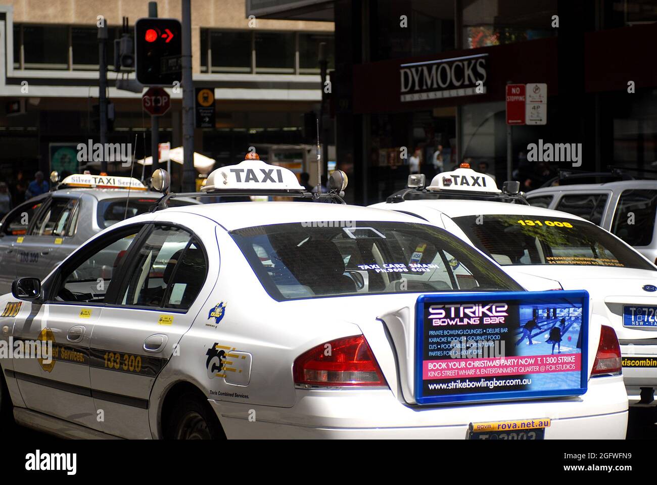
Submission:
M 183 191 L 196 190 L 191 1 L 183 0 Z

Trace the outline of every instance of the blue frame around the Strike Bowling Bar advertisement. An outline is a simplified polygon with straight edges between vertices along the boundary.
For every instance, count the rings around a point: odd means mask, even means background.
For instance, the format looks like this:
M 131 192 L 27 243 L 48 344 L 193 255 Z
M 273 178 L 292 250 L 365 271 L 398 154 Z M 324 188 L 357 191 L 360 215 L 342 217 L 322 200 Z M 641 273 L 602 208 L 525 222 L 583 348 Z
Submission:
M 523 304 L 581 304 L 581 376 L 579 388 L 558 390 L 518 390 L 506 392 L 479 392 L 474 394 L 449 394 L 445 396 L 422 395 L 422 359 L 424 347 L 424 306 L 428 303 L 504 302 Z M 509 399 L 555 398 L 585 394 L 589 381 L 589 293 L 586 290 L 505 291 L 480 293 L 422 294 L 415 304 L 415 388 L 417 404 L 447 404 L 458 402 L 491 402 Z

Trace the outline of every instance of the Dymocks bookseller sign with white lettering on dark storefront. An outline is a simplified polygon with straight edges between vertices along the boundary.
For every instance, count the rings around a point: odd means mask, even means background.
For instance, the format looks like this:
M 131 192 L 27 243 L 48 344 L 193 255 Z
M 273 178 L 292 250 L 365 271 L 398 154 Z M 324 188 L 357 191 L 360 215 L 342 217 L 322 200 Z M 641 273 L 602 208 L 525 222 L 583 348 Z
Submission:
M 401 101 L 486 93 L 487 57 L 487 54 L 477 54 L 401 64 Z

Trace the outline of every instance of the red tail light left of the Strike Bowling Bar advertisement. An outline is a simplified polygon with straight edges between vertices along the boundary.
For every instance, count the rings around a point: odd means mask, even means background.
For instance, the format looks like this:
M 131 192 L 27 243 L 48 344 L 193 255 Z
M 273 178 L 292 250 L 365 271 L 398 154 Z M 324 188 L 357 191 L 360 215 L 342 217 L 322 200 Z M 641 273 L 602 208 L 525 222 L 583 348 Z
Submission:
M 365 336 L 332 340 L 294 360 L 294 382 L 309 386 L 384 386 L 386 379 Z

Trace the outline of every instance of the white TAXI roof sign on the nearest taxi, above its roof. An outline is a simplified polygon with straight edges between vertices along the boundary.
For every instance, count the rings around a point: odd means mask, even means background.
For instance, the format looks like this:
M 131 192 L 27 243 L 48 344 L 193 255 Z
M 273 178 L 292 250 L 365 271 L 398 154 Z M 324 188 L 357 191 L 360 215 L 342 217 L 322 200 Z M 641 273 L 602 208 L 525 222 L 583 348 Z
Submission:
M 202 192 L 233 190 L 293 190 L 303 191 L 296 175 L 277 165 L 261 160 L 244 160 L 237 165 L 217 168 L 210 173 Z

